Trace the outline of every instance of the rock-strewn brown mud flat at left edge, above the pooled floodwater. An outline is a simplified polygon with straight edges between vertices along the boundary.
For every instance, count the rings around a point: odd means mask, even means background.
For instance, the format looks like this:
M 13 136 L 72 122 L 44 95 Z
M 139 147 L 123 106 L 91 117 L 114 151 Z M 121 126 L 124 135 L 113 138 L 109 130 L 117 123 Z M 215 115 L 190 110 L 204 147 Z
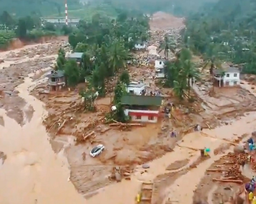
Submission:
M 42 75 L 43 71 L 51 68 L 57 57 L 60 46 L 66 43 L 62 39 L 40 45 L 27 45 L 24 49 L 11 52 L 0 52 L 0 108 L 7 111 L 7 115 L 15 119 L 20 125 L 30 121 L 33 108 L 26 106 L 18 96 L 15 87 L 24 82 L 30 73 Z

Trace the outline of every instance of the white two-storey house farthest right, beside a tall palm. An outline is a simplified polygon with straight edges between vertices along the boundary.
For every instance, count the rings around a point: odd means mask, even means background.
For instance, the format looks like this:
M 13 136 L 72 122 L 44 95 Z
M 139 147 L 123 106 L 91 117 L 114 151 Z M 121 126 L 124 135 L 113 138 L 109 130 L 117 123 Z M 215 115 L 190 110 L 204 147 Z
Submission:
M 235 86 L 240 84 L 240 71 L 234 67 L 228 67 L 225 70 L 214 70 L 214 80 L 218 81 L 219 87 Z

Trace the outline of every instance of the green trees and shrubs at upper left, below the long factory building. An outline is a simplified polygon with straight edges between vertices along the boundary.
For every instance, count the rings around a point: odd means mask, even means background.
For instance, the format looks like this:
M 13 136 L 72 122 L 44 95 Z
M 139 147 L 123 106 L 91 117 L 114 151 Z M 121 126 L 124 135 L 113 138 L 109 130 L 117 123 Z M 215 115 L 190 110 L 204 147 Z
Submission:
M 7 11 L 3 11 L 0 16 L 0 26 L 0 49 L 8 47 L 13 38 L 30 41 L 43 36 L 68 34 L 72 31 L 71 27 L 54 26 L 51 23 L 42 26 L 42 21 L 37 15 L 15 19 Z

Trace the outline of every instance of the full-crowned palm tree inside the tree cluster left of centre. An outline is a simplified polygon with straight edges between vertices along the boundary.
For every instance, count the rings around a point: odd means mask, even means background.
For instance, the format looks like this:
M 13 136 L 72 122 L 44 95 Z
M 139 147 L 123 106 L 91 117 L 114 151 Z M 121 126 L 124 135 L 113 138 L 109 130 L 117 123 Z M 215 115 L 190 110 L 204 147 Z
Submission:
M 129 57 L 128 50 L 125 49 L 124 42 L 116 39 L 109 50 L 109 63 L 119 78 L 119 69 L 126 66 L 126 59 Z

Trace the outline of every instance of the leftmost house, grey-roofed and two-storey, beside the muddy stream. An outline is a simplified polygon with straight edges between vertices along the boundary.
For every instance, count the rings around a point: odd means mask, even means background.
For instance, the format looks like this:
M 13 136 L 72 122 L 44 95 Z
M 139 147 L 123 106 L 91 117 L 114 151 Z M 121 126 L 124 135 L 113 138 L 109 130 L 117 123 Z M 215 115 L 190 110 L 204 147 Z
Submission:
M 66 85 L 64 71 L 62 70 L 52 70 L 51 74 L 48 74 L 47 77 L 49 91 L 61 90 Z

